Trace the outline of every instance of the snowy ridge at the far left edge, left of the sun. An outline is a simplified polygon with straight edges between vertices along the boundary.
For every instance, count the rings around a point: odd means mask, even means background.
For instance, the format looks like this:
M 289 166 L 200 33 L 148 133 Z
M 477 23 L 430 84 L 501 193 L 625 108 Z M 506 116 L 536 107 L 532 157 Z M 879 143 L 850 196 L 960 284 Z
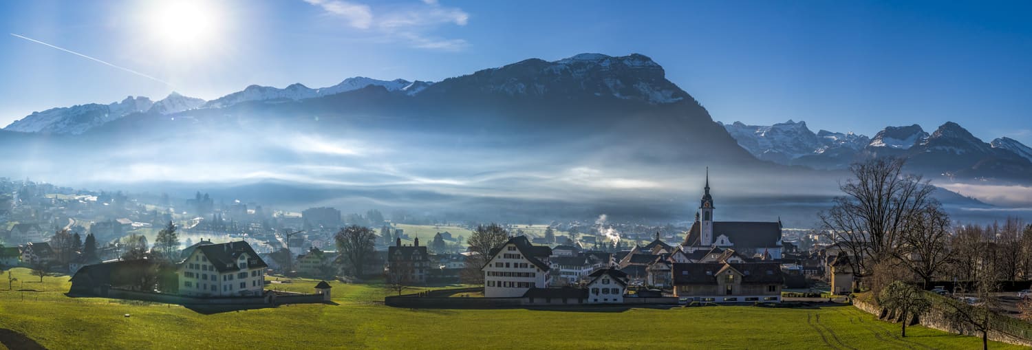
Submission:
M 80 134 L 129 114 L 151 108 L 154 102 L 142 96 L 129 96 L 109 104 L 88 103 L 36 112 L 8 125 L 4 130 L 58 134 Z

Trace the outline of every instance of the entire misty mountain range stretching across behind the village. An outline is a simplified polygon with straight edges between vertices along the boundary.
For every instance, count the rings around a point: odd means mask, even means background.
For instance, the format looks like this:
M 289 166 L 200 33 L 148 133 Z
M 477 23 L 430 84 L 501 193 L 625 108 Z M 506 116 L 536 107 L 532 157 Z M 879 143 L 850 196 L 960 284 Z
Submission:
M 309 204 L 389 202 L 506 220 L 687 220 L 684 201 L 698 195 L 709 166 L 724 208 L 752 205 L 736 217 L 767 220 L 789 217 L 785 205 L 812 218 L 838 193 L 842 169 L 865 156 L 904 155 L 958 179 L 1032 168 L 1013 151 L 1028 154 L 1017 141 L 982 147 L 972 138 L 952 123 L 932 134 L 886 128 L 873 138 L 813 133 L 803 122 L 723 125 L 649 57 L 581 54 L 437 83 L 359 76 L 319 89 L 249 86 L 211 101 L 172 93 L 52 108 L 0 132 L 0 159 L 19 165 L 2 176 L 70 186 L 190 194 L 272 184 L 284 196 L 322 193 Z M 949 147 L 971 159 L 950 163 L 958 157 Z M 757 182 L 755 173 L 769 176 Z M 789 203 L 755 206 L 777 200 Z

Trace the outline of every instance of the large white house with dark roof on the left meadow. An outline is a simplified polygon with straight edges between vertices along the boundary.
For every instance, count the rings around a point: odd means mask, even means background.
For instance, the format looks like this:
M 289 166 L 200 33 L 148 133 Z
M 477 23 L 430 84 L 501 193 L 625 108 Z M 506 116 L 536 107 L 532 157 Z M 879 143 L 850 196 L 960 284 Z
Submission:
M 180 294 L 193 296 L 261 295 L 268 265 L 245 241 L 202 241 L 184 250 L 176 265 Z

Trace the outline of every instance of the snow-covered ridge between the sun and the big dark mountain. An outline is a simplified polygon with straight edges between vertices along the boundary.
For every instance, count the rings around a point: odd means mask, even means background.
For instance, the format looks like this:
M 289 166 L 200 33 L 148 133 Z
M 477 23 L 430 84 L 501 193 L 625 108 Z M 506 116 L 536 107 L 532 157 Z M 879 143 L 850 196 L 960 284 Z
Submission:
M 432 83 L 422 82 L 426 86 Z M 354 91 L 362 89 L 368 86 L 380 86 L 387 89 L 387 91 L 401 91 L 406 87 L 412 85 L 412 82 L 397 78 L 393 81 L 379 81 L 365 76 L 355 76 L 344 79 L 337 85 L 321 89 L 312 89 L 305 87 L 301 84 L 292 84 L 284 89 L 278 89 L 273 87 L 263 87 L 258 85 L 252 85 L 245 88 L 243 91 L 237 91 L 232 94 L 214 99 L 204 104 L 204 107 L 208 108 L 219 108 L 227 107 L 236 103 L 247 102 L 247 101 L 277 101 L 277 100 L 291 100 L 297 101 L 307 98 L 316 98 L 322 96 L 335 95 L 348 91 Z M 426 87 L 423 87 L 425 89 Z M 422 89 L 419 89 L 422 91 Z M 417 91 L 418 92 L 418 91 Z M 409 92 L 410 95 L 415 94 L 415 92 Z

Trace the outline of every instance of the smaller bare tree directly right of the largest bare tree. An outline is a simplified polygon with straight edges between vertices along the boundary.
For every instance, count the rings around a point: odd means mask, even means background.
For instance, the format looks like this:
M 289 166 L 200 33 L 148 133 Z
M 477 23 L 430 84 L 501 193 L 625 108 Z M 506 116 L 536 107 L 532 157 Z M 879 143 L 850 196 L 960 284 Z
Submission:
M 938 203 L 916 213 L 905 225 L 898 257 L 921 277 L 925 289 L 953 259 L 949 237 L 949 216 Z

